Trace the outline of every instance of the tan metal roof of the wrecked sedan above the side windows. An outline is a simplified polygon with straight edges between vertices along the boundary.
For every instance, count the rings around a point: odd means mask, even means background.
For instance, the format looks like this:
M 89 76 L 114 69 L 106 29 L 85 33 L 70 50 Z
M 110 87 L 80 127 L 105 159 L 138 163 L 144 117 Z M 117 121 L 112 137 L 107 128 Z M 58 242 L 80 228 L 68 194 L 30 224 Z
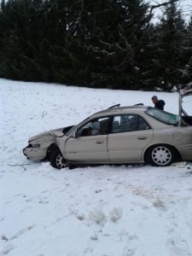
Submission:
M 148 109 L 148 106 L 126 106 L 126 107 L 119 107 L 119 108 L 108 108 L 99 112 L 96 112 L 91 115 L 91 117 L 98 116 L 98 115 L 112 115 L 112 114 L 121 114 L 121 113 L 139 113 L 144 112 Z

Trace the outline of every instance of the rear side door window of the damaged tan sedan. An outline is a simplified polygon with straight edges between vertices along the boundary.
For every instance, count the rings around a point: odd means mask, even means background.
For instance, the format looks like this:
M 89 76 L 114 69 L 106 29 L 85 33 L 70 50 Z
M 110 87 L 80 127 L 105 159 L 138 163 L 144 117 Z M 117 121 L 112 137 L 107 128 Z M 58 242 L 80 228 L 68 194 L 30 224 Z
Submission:
M 149 129 L 150 126 L 137 114 L 122 114 L 113 116 L 111 133 L 138 131 Z

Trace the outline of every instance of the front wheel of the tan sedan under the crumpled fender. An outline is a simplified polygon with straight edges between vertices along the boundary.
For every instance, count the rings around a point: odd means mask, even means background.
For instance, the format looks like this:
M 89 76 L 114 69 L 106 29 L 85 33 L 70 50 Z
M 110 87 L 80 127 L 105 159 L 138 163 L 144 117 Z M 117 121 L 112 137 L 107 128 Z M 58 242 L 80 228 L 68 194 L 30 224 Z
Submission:
M 67 161 L 64 159 L 59 148 L 56 148 L 50 156 L 50 165 L 56 169 L 68 167 Z

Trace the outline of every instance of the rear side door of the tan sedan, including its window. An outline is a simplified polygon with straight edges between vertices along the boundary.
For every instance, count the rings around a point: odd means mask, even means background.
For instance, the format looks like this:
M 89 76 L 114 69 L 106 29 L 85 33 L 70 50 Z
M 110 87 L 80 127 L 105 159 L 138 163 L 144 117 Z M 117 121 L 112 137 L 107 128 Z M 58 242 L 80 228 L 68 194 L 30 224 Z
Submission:
M 137 114 L 113 117 L 108 135 L 108 157 L 111 162 L 134 162 L 142 160 L 143 148 L 153 140 L 153 129 Z

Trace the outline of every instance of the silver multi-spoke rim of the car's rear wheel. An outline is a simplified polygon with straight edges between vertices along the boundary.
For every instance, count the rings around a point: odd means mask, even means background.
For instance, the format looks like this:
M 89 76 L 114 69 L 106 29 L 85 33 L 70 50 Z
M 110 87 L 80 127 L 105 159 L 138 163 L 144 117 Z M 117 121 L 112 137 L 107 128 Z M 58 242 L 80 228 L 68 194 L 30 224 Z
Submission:
M 166 166 L 172 160 L 172 152 L 166 147 L 154 148 L 152 159 L 158 166 Z

